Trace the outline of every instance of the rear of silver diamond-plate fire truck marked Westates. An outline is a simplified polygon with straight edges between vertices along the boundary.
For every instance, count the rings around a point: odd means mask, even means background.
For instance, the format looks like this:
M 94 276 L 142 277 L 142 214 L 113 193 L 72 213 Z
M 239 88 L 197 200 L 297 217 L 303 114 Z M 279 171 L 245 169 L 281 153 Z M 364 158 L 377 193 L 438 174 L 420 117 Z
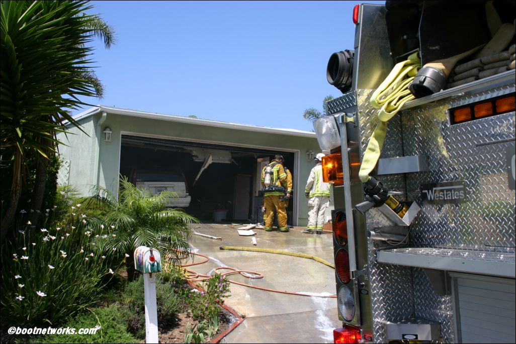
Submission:
M 314 123 L 335 342 L 516 342 L 514 1 L 357 5 Z

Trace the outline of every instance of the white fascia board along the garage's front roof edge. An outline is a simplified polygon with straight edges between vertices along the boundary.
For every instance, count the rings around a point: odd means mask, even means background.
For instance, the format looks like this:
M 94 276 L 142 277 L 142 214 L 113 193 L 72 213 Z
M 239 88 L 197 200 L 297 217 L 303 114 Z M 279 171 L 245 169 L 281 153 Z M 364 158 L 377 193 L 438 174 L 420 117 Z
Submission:
M 107 112 L 107 113 L 123 115 L 123 116 L 159 119 L 162 121 L 188 123 L 188 124 L 193 124 L 193 125 L 203 125 L 203 126 L 217 127 L 217 128 L 245 130 L 245 131 L 252 131 L 252 132 L 263 132 L 263 133 L 269 133 L 269 134 L 282 134 L 282 135 L 293 135 L 293 136 L 301 136 L 301 137 L 311 137 L 313 139 L 316 138 L 315 132 L 310 132 L 310 131 L 303 131 L 303 130 L 297 130 L 297 129 L 259 127 L 259 126 L 252 126 L 252 125 L 247 125 L 247 124 L 212 121 L 211 119 L 190 118 L 190 117 L 182 117 L 182 116 L 175 116 L 175 115 L 166 115 L 166 114 L 161 114 L 161 113 L 136 111 L 136 110 L 131 110 L 131 109 L 111 108 L 111 107 L 106 107 L 106 106 L 102 106 L 102 105 L 92 107 L 84 112 L 81 112 L 76 117 L 74 117 L 74 119 L 75 119 L 75 121 L 78 121 L 79 119 L 86 118 L 88 116 L 94 115 L 99 112 Z

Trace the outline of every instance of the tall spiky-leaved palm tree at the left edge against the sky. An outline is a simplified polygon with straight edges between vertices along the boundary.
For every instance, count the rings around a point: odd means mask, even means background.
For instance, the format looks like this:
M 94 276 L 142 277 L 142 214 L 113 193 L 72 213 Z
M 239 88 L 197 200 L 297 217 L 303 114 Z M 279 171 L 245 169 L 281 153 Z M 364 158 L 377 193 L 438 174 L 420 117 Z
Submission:
M 3 242 L 18 207 L 25 159 L 38 154 L 38 184 L 45 180 L 45 167 L 57 144 L 63 123 L 79 127 L 67 112 L 88 105 L 78 96 L 102 95 L 102 86 L 92 71 L 93 37 L 104 38 L 109 47 L 114 32 L 85 1 L 2 1 L 0 157 L 2 174 L 11 178 L 8 200 L 2 197 Z M 44 183 L 44 182 L 43 182 Z M 35 188 L 35 194 L 44 186 Z M 34 195 L 33 209 L 41 207 Z M 37 203 L 39 202 L 39 207 Z

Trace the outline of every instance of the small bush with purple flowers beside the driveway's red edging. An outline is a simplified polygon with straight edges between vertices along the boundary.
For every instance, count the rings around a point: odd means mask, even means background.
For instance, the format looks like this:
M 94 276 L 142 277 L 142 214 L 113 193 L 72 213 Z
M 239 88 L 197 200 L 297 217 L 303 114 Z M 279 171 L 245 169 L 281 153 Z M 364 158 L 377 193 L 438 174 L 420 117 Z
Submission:
M 202 291 L 190 290 L 187 295 L 187 302 L 192 311 L 194 319 L 212 319 L 218 317 L 219 303 L 224 303 L 224 298 L 229 297 L 229 281 L 216 273 L 210 278 Z

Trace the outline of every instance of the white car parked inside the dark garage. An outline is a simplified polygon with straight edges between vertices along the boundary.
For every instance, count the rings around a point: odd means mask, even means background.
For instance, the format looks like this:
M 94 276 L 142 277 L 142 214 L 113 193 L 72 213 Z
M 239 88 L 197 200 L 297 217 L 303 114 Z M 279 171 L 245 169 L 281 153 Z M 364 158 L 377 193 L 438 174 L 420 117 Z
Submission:
M 168 208 L 188 208 L 191 197 L 188 194 L 188 182 L 181 169 L 137 169 L 133 168 L 130 178 L 138 188 L 149 190 L 152 195 L 162 191 L 174 192 L 173 197 L 165 205 Z

